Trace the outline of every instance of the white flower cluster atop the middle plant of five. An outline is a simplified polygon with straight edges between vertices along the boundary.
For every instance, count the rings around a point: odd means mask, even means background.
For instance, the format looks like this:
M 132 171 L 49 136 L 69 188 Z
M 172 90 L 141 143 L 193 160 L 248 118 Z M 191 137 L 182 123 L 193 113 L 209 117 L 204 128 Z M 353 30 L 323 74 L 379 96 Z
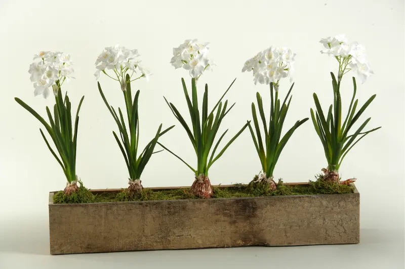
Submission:
M 192 78 L 199 78 L 204 71 L 210 70 L 214 62 L 208 58 L 208 42 L 199 43 L 197 39 L 187 39 L 179 47 L 173 48 L 170 63 L 177 68 L 189 70 Z

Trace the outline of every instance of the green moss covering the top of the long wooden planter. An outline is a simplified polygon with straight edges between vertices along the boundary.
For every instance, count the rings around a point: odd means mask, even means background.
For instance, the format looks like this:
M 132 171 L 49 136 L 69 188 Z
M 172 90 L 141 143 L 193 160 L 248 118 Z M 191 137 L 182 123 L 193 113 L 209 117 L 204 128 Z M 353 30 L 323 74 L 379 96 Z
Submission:
M 287 185 L 278 180 L 277 189 L 270 191 L 269 184 L 251 182 L 249 185 L 233 184 L 232 187 L 214 187 L 213 198 L 259 197 L 276 195 L 316 195 L 316 194 L 342 194 L 352 193 L 353 187 L 326 182 L 322 175 L 317 175 L 315 181 L 308 185 Z M 258 179 L 255 176 L 254 179 Z M 199 199 L 190 194 L 189 189 L 151 190 L 143 189 L 140 193 L 129 193 L 127 189 L 119 192 L 104 192 L 93 195 L 81 183 L 77 193 L 66 196 L 63 191 L 54 195 L 54 203 L 86 203 L 86 202 L 116 202 L 116 201 L 151 201 L 151 200 L 178 200 Z

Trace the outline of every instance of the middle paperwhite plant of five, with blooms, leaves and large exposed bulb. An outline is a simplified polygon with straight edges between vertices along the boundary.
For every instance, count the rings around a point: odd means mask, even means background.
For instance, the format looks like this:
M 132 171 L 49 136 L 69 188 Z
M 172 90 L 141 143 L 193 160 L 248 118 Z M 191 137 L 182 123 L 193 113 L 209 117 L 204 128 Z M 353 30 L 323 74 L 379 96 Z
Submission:
M 180 44 L 180 46 L 173 48 L 173 58 L 170 62 L 176 69 L 184 68 L 185 70 L 188 70 L 191 77 L 191 98 L 188 94 L 184 79 L 181 79 L 188 111 L 190 114 L 191 126 L 188 126 L 188 124 L 184 120 L 184 117 L 176 109 L 176 106 L 173 103 L 168 102 L 165 97 L 165 101 L 170 107 L 170 110 L 183 126 L 191 141 L 191 144 L 197 156 L 197 168 L 193 168 L 181 157 L 173 153 L 166 146 L 159 143 L 163 148 L 179 158 L 181 162 L 183 162 L 194 173 L 194 182 L 191 185 L 190 193 L 201 198 L 211 198 L 213 195 L 213 187 L 211 185 L 210 179 L 208 178 L 209 169 L 216 162 L 216 160 L 218 160 L 222 156 L 222 154 L 231 145 L 231 143 L 248 126 L 248 124 L 245 124 L 240 129 L 240 131 L 237 132 L 236 135 L 229 140 L 229 142 L 222 148 L 222 150 L 219 151 L 217 155 L 215 155 L 222 138 L 228 132 L 228 130 L 226 130 L 220 136 L 214 146 L 214 141 L 219 127 L 222 123 L 222 120 L 235 105 L 235 103 L 233 103 L 228 108 L 228 100 L 225 100 L 225 102 L 222 103 L 222 99 L 229 91 L 230 87 L 233 85 L 236 79 L 232 81 L 231 85 L 213 107 L 211 112 L 209 112 L 208 107 L 208 84 L 206 84 L 200 115 L 200 110 L 198 108 L 197 81 L 201 77 L 201 75 L 204 74 L 205 71 L 211 70 L 212 66 L 214 65 L 213 61 L 208 57 L 209 48 L 207 45 L 208 43 L 200 43 L 197 39 L 187 39 L 184 41 L 184 43 Z

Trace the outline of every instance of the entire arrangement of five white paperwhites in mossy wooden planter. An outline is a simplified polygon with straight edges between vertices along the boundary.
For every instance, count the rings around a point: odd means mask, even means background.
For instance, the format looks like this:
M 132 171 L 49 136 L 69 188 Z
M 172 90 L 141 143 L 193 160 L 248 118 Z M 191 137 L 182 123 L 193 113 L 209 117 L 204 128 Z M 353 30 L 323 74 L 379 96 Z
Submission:
M 212 108 L 209 107 L 208 85 L 205 84 L 199 106 L 197 86 L 200 86 L 200 77 L 214 66 L 209 58 L 208 43 L 187 39 L 173 49 L 170 63 L 176 69 L 188 70 L 191 77 L 191 93 L 185 80 L 181 79 L 190 119 L 183 117 L 184 114 L 166 97 L 164 99 L 194 148 L 197 164 L 192 166 L 172 152 L 170 145 L 160 141 L 161 136 L 170 136 L 169 131 L 174 126 L 163 129 L 160 124 L 150 142 L 143 149 L 139 148 L 140 90 L 133 96 L 131 83 L 149 79 L 150 72 L 140 64 L 136 49 L 118 45 L 106 47 L 97 58 L 95 76 L 99 79 L 103 73 L 117 81 L 118 91 L 124 95 L 125 109 L 115 109 L 108 103 L 98 82 L 101 99 L 117 126 L 118 132 L 112 134 L 128 169 L 129 186 L 97 191 L 87 189 L 76 176 L 78 114 L 84 96 L 72 119 L 69 97 L 61 89 L 62 84 L 72 78 L 70 56 L 49 51 L 35 55 L 36 61 L 29 68 L 34 95 L 42 94 L 47 98 L 53 92 L 55 96 L 53 110 L 46 107 L 49 123 L 21 99 L 15 100 L 44 125 L 50 138 L 42 129 L 39 131 L 67 180 L 63 191 L 50 193 L 51 254 L 358 243 L 359 193 L 351 180 L 340 181 L 339 168 L 349 150 L 380 127 L 363 131 L 369 118 L 349 133 L 376 95 L 358 109 L 353 77 L 353 96 L 347 115 L 342 117 L 340 84 L 349 71 L 356 72 L 362 82 L 373 72 L 362 45 L 349 43 L 342 36 L 328 37 L 320 42 L 326 47 L 321 52 L 339 63 L 337 79 L 331 73 L 333 103 L 328 113 L 323 113 L 315 93 L 316 109 L 310 110 L 328 167 L 322 169 L 324 174 L 318 175 L 316 181 L 303 184 L 274 181 L 274 169 L 282 150 L 298 127 L 308 121 L 308 118 L 298 120 L 283 131 L 294 86 L 293 83 L 285 97 L 280 98 L 279 92 L 284 91 L 282 83 L 287 79 L 292 83 L 295 54 L 289 48 L 270 46 L 245 62 L 242 72 L 252 72 L 255 85 L 268 85 L 270 94 L 263 100 L 262 95 L 256 93 L 257 106 L 252 102 L 253 124 L 250 119 L 246 119 L 245 124 L 240 123 L 239 131 L 223 147 L 220 144 L 228 130 L 222 132 L 220 126 L 235 105 L 228 105 L 228 100 L 223 99 L 235 80 Z M 265 110 L 265 103 L 270 104 L 269 111 Z M 209 169 L 246 129 L 250 130 L 262 172 L 247 185 L 212 186 Z M 155 149 L 157 146 L 162 149 Z M 191 187 L 142 186 L 141 176 L 150 158 L 164 150 L 193 172 Z M 120 236 L 123 234 L 125 237 Z

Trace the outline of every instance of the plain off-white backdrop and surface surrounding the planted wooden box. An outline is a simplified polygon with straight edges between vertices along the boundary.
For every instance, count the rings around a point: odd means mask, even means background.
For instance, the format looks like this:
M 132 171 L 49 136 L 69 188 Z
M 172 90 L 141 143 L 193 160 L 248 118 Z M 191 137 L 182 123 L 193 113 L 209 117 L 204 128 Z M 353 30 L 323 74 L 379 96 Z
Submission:
M 403 268 L 399 246 L 403 226 L 403 35 L 405 2 L 385 1 L 0 1 L 0 268 L 59 268 L 143 265 L 146 267 L 234 268 L 249 264 L 308 268 Z M 49 255 L 48 192 L 64 188 L 63 173 L 39 134 L 40 123 L 15 101 L 18 96 L 45 116 L 54 99 L 33 96 L 27 73 L 39 50 L 64 51 L 74 62 L 75 78 L 64 84 L 75 107 L 82 95 L 77 174 L 88 188 L 125 188 L 127 170 L 111 131 L 116 129 L 97 90 L 94 62 L 105 46 L 138 48 L 154 75 L 140 89 L 142 147 L 160 123 L 176 127 L 161 138 L 189 163 L 196 158 L 188 137 L 171 114 L 163 95 L 187 116 L 180 78 L 187 71 L 169 61 L 184 39 L 210 42 L 217 66 L 199 82 L 209 84 L 211 107 L 236 77 L 227 98 L 236 102 L 222 124 L 228 139 L 251 119 L 251 102 L 259 91 L 268 104 L 269 90 L 241 73 L 244 62 L 269 45 L 287 46 L 296 56 L 293 101 L 285 129 L 309 117 L 316 92 L 326 109 L 332 101 L 329 72 L 337 63 L 321 55 L 319 39 L 346 34 L 367 48 L 375 76 L 358 82 L 359 103 L 377 98 L 363 120 L 383 126 L 358 143 L 341 166 L 343 179 L 357 178 L 361 194 L 361 243 L 342 246 L 232 248 L 109 254 Z M 109 102 L 123 106 L 119 85 L 106 76 L 100 83 Z M 280 95 L 289 88 L 282 81 Z M 342 84 L 344 109 L 352 94 L 350 73 Z M 268 106 L 267 106 L 268 107 Z M 224 140 L 225 141 L 225 140 Z M 275 169 L 286 182 L 313 179 L 327 165 L 321 143 L 308 121 L 293 135 Z M 210 172 L 212 184 L 248 183 L 260 163 L 248 131 L 231 145 Z M 189 186 L 193 175 L 168 152 L 153 155 L 142 175 L 145 187 Z M 159 257 L 159 259 L 157 258 Z M 202 260 L 202 261 L 201 261 Z M 209 262 L 210 265 L 207 265 Z M 160 265 L 158 265 L 160 264 Z M 368 264 L 368 265 L 366 265 Z M 128 265 L 127 265 L 128 266 Z

